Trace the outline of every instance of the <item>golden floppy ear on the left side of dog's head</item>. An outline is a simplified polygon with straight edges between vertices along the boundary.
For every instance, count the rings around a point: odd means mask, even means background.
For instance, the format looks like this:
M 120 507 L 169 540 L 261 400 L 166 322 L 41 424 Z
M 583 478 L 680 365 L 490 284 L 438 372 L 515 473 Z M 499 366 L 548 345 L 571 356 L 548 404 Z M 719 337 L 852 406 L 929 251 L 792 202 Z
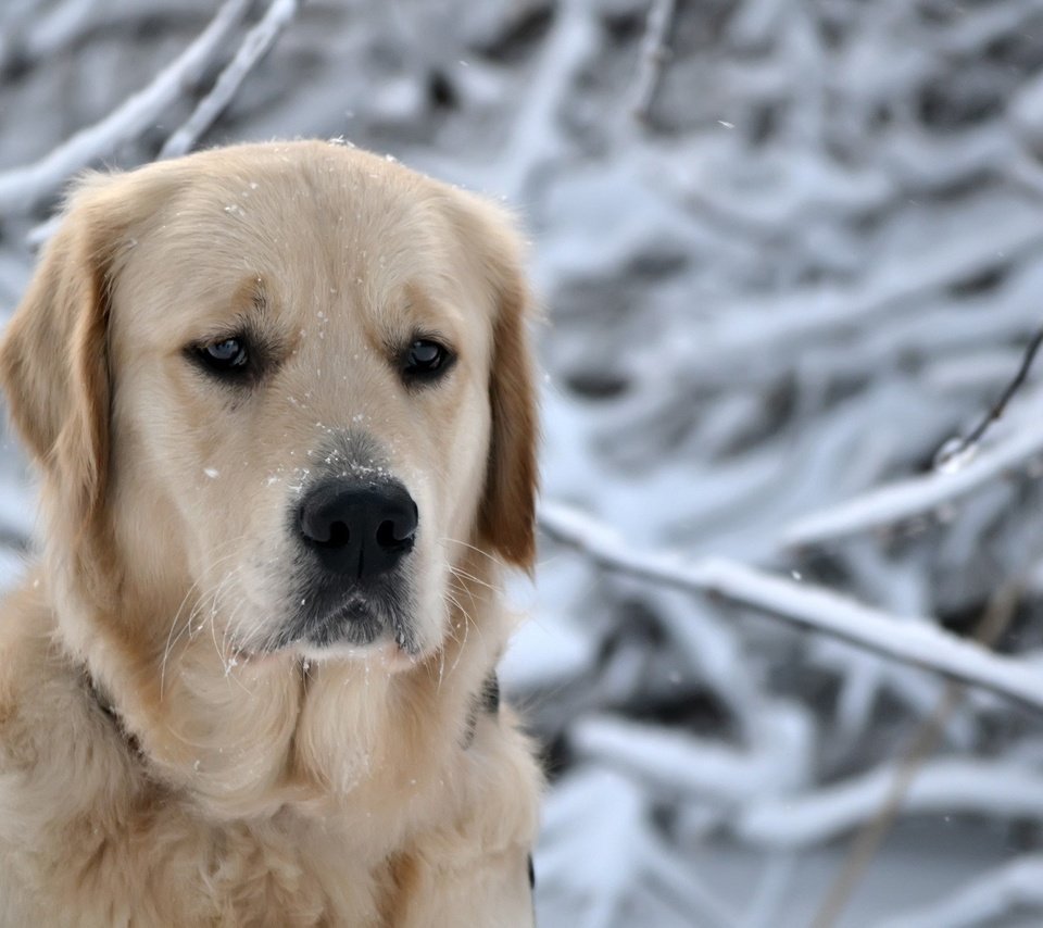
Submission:
M 84 526 L 104 497 L 109 463 L 109 274 L 118 230 L 99 199 L 90 188 L 72 198 L 0 346 L 11 418 L 62 512 Z

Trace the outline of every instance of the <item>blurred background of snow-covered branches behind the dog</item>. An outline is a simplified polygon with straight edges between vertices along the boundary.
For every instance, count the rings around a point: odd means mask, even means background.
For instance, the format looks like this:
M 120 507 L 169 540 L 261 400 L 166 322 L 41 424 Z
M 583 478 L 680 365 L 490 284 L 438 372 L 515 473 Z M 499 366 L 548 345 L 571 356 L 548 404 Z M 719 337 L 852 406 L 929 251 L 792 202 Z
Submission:
M 541 925 L 1040 925 L 1040 378 L 932 461 L 1043 324 L 1043 2 L 297 8 L 0 2 L 0 312 L 88 164 L 343 136 L 505 198 Z

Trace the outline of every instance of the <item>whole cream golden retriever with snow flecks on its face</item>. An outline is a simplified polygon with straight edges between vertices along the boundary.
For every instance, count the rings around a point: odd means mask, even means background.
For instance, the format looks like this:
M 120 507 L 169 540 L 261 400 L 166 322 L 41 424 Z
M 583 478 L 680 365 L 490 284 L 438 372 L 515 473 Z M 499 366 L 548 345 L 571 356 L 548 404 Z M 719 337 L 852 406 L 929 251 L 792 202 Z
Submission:
M 501 212 L 345 146 L 78 184 L 0 350 L 4 926 L 523 926 L 495 664 L 536 411 Z

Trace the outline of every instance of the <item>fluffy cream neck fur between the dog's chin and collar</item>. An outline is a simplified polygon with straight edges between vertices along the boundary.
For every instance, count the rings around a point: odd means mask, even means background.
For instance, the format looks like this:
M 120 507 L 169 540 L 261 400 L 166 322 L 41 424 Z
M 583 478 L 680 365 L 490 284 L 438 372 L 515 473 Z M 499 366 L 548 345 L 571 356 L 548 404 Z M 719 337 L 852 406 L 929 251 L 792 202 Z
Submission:
M 152 632 L 168 627 L 180 603 L 149 601 L 136 594 L 134 578 L 81 564 L 71 570 L 67 554 L 50 553 L 49 576 L 64 582 L 46 595 L 61 616 L 65 650 L 140 745 L 142 775 L 206 817 L 334 816 L 353 833 L 378 830 L 376 844 L 362 841 L 372 850 L 403 839 L 406 822 L 422 824 L 426 799 L 444 805 L 476 694 L 508 632 L 490 595 L 498 576 L 488 557 L 460 565 L 474 580 L 454 590 L 466 613 L 453 606 L 442 649 L 390 674 L 376 662 L 309 664 L 287 654 L 236 663 L 209 628 L 156 653 L 154 643 L 137 642 L 154 642 Z

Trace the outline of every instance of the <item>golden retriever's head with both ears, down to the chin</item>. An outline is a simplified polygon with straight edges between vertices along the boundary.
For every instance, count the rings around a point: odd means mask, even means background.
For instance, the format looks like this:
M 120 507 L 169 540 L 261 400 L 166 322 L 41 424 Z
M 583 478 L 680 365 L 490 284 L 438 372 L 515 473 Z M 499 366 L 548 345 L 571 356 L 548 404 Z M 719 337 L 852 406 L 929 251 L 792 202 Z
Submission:
M 2 367 L 52 535 L 81 561 L 101 532 L 123 581 L 180 595 L 153 650 L 202 631 L 226 659 L 407 666 L 451 634 L 473 545 L 531 563 L 524 310 L 491 208 L 252 146 L 81 190 Z

